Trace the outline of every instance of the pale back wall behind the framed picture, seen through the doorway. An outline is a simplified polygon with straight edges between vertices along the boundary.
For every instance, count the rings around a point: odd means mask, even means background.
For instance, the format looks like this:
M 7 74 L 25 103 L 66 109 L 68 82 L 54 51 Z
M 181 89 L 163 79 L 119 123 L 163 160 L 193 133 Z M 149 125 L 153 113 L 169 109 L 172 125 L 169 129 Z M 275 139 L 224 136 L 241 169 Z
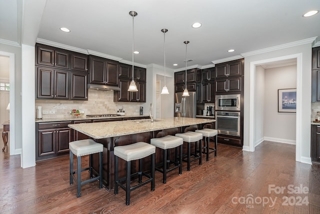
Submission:
M 264 137 L 295 144 L 295 113 L 278 111 L 278 89 L 296 88 L 296 65 L 265 69 Z

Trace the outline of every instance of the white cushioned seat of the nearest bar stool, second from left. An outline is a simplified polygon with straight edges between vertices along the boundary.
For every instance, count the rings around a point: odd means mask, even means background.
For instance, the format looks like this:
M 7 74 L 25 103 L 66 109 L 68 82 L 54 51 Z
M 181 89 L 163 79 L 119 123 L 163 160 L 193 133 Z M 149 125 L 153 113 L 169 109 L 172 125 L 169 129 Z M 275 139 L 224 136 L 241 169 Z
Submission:
M 153 153 L 155 153 L 155 147 L 145 142 L 114 147 L 114 155 L 125 161 L 141 159 Z

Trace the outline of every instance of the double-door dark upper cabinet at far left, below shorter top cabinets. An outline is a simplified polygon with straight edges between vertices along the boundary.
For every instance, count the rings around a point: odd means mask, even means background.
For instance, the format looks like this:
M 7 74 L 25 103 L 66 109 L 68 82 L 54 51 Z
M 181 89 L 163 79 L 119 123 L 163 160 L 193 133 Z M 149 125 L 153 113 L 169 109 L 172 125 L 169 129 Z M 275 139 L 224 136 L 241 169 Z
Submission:
M 69 99 L 69 73 L 37 68 L 37 98 Z

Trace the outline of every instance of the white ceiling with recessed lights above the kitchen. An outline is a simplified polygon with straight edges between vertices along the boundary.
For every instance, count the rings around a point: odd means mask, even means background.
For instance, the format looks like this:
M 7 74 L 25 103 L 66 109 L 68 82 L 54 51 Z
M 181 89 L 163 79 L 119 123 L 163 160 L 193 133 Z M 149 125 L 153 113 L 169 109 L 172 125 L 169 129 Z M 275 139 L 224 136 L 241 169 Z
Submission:
M 89 50 L 132 61 L 132 17 L 134 18 L 134 63 L 163 66 L 163 28 L 165 66 L 174 71 L 187 66 L 212 67 L 212 61 L 313 37 L 320 38 L 320 14 L 303 18 L 310 10 L 320 10 L 318 0 L 47 0 L 35 14 L 39 27 L 32 32 L 37 41 Z M 23 4 L 22 4 L 23 3 Z M 22 11 L 36 9 L 38 1 L 0 0 L 0 43 L 21 44 Z M 22 8 L 22 5 L 24 8 Z M 3 22 L 4 21 L 4 22 Z M 194 22 L 202 27 L 191 28 Z M 59 30 L 66 27 L 70 33 Z M 2 30 L 5 29 L 5 30 Z M 22 33 L 21 33 L 22 32 Z M 35 42 L 35 41 L 34 41 Z M 66 48 L 67 49 L 67 48 Z M 227 52 L 234 49 L 234 52 Z M 176 63 L 178 66 L 173 66 Z

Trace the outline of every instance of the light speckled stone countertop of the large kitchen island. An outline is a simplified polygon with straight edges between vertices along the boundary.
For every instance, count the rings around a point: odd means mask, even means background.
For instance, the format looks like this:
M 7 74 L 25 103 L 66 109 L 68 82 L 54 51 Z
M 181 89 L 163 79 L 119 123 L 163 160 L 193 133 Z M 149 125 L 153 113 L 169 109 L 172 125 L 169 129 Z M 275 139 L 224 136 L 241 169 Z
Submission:
M 142 132 L 156 131 L 162 129 L 190 126 L 201 123 L 215 122 L 214 119 L 171 117 L 163 119 L 124 120 L 97 123 L 69 124 L 68 127 L 86 134 L 94 139 L 137 134 Z

